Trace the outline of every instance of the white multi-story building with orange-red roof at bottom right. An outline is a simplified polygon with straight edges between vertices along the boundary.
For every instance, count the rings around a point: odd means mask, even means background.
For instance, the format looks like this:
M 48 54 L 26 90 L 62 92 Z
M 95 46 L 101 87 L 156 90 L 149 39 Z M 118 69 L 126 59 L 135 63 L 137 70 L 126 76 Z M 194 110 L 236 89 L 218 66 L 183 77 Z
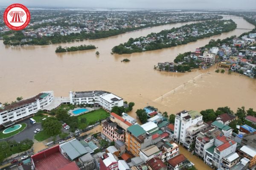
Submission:
M 208 148 L 204 154 L 204 161 L 215 168 L 221 167 L 221 159 L 236 152 L 237 143 L 228 136 L 217 136 L 214 146 Z

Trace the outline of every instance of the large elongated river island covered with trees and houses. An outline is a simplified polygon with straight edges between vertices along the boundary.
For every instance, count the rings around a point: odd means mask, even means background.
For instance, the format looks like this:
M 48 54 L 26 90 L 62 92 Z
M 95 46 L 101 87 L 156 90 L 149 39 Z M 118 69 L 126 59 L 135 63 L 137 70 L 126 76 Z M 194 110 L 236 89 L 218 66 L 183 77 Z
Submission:
M 147 37 L 130 38 L 128 42 L 112 48 L 113 53 L 131 54 L 134 52 L 151 51 L 170 48 L 177 45 L 195 42 L 205 37 L 211 37 L 236 29 L 233 20 L 212 20 L 193 23 L 178 28 L 163 30 L 148 34 Z

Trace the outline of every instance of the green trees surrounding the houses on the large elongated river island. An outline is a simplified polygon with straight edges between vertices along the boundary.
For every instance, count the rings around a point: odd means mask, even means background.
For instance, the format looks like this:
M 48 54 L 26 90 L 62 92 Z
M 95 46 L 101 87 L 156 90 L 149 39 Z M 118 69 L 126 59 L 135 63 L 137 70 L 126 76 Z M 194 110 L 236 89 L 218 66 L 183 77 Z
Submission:
M 195 42 L 199 39 L 203 39 L 205 37 L 211 37 L 213 35 L 218 35 L 218 34 L 221 34 L 223 32 L 228 32 L 228 31 L 232 31 L 234 29 L 236 29 L 236 23 L 233 22 L 233 20 L 228 20 L 229 23 L 225 23 L 227 21 L 225 20 L 218 20 L 218 21 L 207 21 L 207 22 L 204 22 L 204 23 L 194 23 L 194 24 L 190 24 L 190 25 L 185 25 L 185 26 L 181 26 L 179 28 L 172 28 L 172 29 L 169 29 L 169 30 L 163 30 L 163 31 L 160 31 L 159 33 L 151 33 L 151 34 L 148 34 L 147 37 L 140 37 L 140 38 L 130 38 L 128 40 L 128 42 L 125 42 L 124 44 L 119 44 L 115 47 L 112 48 L 112 52 L 113 53 L 117 53 L 117 54 L 131 54 L 131 53 L 134 53 L 134 52 L 143 52 L 143 51 L 151 51 L 151 50 L 157 50 L 157 49 L 162 49 L 162 48 L 170 48 L 170 47 L 173 47 L 173 46 L 177 46 L 177 45 L 182 45 L 182 44 L 187 44 L 188 42 Z M 172 39 L 172 42 L 170 42 L 170 39 L 167 37 L 167 34 L 171 34 L 173 32 L 178 32 L 180 29 L 183 29 L 183 28 L 193 28 L 193 27 L 198 27 L 200 28 L 199 31 L 204 31 L 203 28 L 204 28 L 204 24 L 207 23 L 209 25 L 213 25 L 213 24 L 218 24 L 218 26 L 221 26 L 223 27 L 221 30 L 216 30 L 214 32 L 208 32 L 207 34 L 201 34 L 201 35 L 198 35 L 197 37 L 195 36 L 186 36 L 184 38 L 184 40 L 179 40 L 177 38 L 175 39 Z M 157 39 L 157 40 L 154 40 L 152 42 L 149 42 L 147 45 L 144 46 L 144 49 L 142 47 L 138 47 L 137 45 L 134 45 L 134 42 L 142 42 L 145 38 L 148 38 L 148 37 L 160 37 L 160 36 L 163 36 L 161 37 L 161 39 Z M 131 47 L 131 48 L 127 48 L 127 47 Z

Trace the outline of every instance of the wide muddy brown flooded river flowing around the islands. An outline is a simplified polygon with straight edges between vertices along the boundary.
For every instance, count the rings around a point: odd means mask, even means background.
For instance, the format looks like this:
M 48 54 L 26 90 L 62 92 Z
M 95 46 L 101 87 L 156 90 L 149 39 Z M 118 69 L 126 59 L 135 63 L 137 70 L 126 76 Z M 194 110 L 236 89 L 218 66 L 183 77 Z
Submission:
M 233 20 L 238 28 L 254 27 L 241 18 Z M 214 68 L 185 74 L 153 69 L 157 62 L 172 62 L 177 54 L 194 51 L 195 48 L 206 45 L 211 39 L 238 36 L 249 30 L 236 29 L 197 42 L 157 51 L 111 55 L 113 46 L 126 42 L 130 37 L 146 36 L 151 32 L 189 23 L 169 24 L 105 39 L 61 44 L 93 44 L 98 47 L 95 50 L 65 54 L 55 54 L 58 45 L 20 48 L 5 46 L 1 40 L 0 102 L 14 101 L 17 96 L 27 98 L 41 91 L 54 90 L 55 96 L 68 96 L 69 91 L 105 90 L 128 102 L 135 102 L 132 116 L 135 116 L 134 112 L 138 108 L 143 108 L 147 104 L 168 113 L 177 113 L 183 109 L 216 109 L 226 105 L 233 110 L 242 105 L 256 109 L 256 79 L 236 74 L 215 73 Z M 96 56 L 96 51 L 99 51 L 99 56 Z M 124 58 L 130 59 L 131 62 L 120 62 Z

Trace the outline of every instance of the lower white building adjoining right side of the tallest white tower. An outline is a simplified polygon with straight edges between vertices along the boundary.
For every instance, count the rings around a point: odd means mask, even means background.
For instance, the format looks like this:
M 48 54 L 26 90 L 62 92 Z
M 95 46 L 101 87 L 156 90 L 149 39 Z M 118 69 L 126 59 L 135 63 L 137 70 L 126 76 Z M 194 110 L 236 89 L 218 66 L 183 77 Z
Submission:
M 186 142 L 183 143 L 183 146 L 186 147 L 188 150 L 191 149 L 191 145 L 195 144 L 196 137 L 198 133 L 203 130 L 206 130 L 208 125 L 204 123 L 203 120 L 198 121 L 198 123 L 194 126 L 191 126 L 186 129 Z

